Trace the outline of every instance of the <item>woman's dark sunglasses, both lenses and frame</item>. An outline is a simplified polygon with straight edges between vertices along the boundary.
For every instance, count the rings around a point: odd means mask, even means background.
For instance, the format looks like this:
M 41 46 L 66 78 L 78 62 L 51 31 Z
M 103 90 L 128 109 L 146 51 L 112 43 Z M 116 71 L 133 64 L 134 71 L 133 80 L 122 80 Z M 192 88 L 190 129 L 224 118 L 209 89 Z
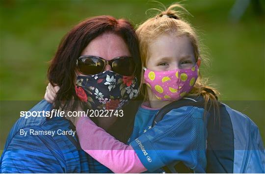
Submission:
M 125 76 L 133 75 L 136 69 L 132 57 L 116 57 L 112 60 L 105 60 L 99 56 L 82 55 L 77 59 L 78 70 L 83 75 L 101 73 L 106 65 L 110 65 L 112 71 Z

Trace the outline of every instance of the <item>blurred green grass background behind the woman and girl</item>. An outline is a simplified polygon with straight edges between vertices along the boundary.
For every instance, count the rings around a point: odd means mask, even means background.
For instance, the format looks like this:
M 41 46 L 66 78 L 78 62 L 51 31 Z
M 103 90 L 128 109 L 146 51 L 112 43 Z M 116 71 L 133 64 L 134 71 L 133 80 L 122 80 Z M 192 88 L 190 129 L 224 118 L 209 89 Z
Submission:
M 168 6 L 175 1 L 160 2 Z M 238 23 L 232 23 L 229 13 L 235 0 L 182 3 L 193 15 L 186 19 L 198 30 L 211 60 L 209 67 L 202 65 L 202 75 L 220 91 L 223 102 L 249 115 L 265 140 L 264 16 L 256 15 L 250 3 Z M 265 9 L 264 1 L 261 6 Z M 1 0 L 0 149 L 19 112 L 43 99 L 48 61 L 67 31 L 98 15 L 126 18 L 136 25 L 154 7 L 159 4 L 143 0 Z

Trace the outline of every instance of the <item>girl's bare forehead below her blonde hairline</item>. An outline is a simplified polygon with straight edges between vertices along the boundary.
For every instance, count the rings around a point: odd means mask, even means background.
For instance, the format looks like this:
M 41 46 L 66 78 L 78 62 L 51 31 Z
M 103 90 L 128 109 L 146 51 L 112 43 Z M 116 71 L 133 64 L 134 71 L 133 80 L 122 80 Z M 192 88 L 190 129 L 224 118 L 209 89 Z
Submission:
M 173 33 L 156 37 L 148 46 L 149 58 L 194 56 L 193 46 L 186 36 Z

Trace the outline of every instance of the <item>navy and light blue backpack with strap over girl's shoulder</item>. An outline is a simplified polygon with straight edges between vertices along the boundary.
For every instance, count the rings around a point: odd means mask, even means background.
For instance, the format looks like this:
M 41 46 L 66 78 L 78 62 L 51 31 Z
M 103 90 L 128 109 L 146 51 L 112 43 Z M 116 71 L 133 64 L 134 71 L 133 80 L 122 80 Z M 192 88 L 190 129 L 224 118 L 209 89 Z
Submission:
M 211 93 L 214 95 L 213 91 Z M 173 101 L 159 110 L 152 127 L 169 111 L 183 106 L 204 108 L 204 99 L 200 96 Z M 248 116 L 224 103 L 219 102 L 219 108 L 220 119 L 216 119 L 212 109 L 208 111 L 206 172 L 265 173 L 265 149 L 257 125 Z M 166 173 L 193 173 L 183 162 L 163 169 Z

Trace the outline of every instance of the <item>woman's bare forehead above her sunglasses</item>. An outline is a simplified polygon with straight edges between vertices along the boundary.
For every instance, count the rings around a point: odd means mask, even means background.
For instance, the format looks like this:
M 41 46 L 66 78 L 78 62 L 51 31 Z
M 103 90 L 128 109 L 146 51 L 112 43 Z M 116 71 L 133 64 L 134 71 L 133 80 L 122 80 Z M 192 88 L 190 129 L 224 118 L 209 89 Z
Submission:
M 111 60 L 115 57 L 131 56 L 131 53 L 122 37 L 108 32 L 93 39 L 81 55 L 95 55 Z

